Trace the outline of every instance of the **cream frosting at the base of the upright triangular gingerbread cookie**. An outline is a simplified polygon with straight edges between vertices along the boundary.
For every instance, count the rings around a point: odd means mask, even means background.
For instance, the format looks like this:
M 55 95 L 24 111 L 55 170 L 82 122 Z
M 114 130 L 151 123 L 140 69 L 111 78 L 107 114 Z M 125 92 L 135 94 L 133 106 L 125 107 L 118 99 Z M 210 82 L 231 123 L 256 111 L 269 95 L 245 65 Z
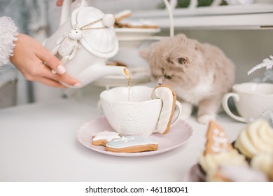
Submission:
M 216 169 L 219 165 L 247 165 L 243 155 L 240 155 L 235 149 L 225 153 L 205 154 L 200 156 L 199 163 L 208 172 Z

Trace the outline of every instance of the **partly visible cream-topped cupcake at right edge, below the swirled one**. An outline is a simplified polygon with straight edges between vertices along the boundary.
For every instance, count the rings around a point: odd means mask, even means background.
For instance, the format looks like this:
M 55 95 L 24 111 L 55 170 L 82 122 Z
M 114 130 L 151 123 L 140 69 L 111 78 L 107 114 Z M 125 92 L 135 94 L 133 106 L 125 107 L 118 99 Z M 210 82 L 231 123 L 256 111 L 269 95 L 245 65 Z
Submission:
M 250 165 L 266 174 L 269 181 L 273 181 L 273 154 L 255 155 Z

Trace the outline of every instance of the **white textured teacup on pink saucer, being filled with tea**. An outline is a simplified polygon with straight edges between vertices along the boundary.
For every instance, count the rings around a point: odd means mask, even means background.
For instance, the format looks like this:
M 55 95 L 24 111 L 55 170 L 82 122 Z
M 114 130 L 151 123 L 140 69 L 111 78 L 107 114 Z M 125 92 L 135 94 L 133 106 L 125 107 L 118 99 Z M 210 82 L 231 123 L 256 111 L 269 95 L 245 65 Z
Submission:
M 100 94 L 100 104 L 113 130 L 121 136 L 149 136 L 157 132 L 162 111 L 162 99 L 152 99 L 153 88 L 146 86 L 114 87 Z M 130 101 L 129 101 L 130 100 Z M 181 115 L 181 104 L 176 101 L 174 125 Z

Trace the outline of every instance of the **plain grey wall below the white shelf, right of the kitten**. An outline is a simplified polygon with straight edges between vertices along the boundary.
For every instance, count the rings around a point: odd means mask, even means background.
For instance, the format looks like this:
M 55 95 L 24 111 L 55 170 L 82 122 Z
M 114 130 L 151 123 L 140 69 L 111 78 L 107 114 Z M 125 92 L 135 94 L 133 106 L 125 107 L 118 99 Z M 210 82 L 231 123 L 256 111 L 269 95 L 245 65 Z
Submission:
M 273 30 L 211 30 L 211 31 L 181 31 L 200 42 L 217 45 L 236 65 L 236 83 L 262 77 L 265 69 L 255 71 L 247 76 L 249 71 L 262 59 L 273 55 Z

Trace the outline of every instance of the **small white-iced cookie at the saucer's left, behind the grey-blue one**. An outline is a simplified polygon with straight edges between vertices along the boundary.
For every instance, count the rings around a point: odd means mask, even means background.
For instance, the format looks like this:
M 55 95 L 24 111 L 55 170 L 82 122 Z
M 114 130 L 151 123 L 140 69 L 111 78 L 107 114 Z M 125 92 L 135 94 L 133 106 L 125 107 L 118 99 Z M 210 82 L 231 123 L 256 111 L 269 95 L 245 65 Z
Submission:
M 117 132 L 98 132 L 93 134 L 92 144 L 94 146 L 106 146 L 107 142 L 120 138 L 120 135 Z

